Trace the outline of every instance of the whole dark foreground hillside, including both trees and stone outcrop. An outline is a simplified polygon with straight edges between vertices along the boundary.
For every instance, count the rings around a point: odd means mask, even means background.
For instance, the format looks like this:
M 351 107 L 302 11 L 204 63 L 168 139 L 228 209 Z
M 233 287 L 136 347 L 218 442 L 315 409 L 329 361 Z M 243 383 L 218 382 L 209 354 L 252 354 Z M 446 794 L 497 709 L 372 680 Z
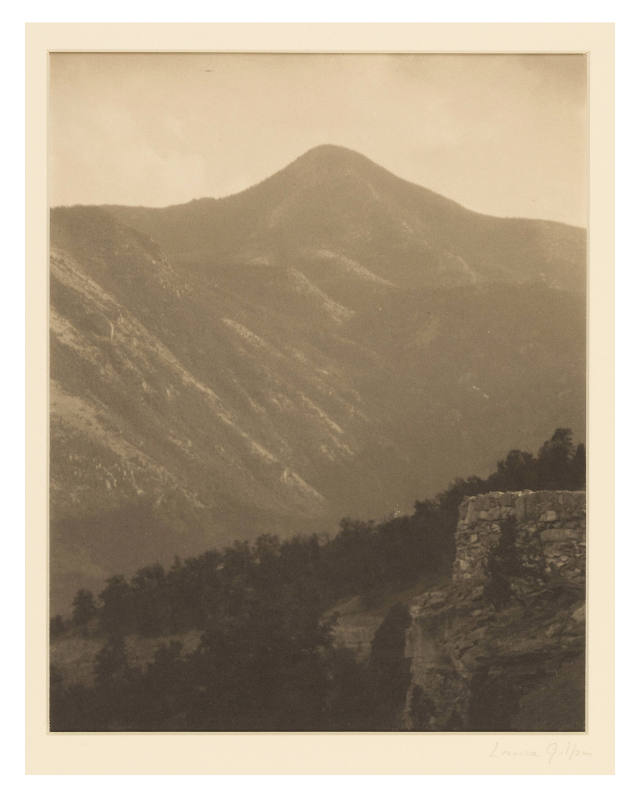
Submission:
M 411 516 L 80 591 L 52 621 L 51 728 L 583 730 L 584 472 L 559 429 Z M 364 655 L 349 598 L 378 619 Z

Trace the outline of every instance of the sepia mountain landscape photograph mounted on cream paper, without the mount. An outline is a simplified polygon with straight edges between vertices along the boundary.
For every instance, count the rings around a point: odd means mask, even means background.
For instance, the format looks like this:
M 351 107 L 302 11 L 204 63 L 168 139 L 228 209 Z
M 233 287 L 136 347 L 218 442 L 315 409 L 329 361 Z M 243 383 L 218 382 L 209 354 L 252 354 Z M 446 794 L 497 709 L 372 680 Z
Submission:
M 48 70 L 49 731 L 584 733 L 587 55 Z

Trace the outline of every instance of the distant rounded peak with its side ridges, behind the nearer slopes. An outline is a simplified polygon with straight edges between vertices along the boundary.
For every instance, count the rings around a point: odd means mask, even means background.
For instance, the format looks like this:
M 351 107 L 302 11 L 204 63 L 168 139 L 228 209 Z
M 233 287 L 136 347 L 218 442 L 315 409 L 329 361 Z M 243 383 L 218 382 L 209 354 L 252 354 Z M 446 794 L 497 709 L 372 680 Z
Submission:
M 221 200 L 109 211 L 192 262 L 339 271 L 346 258 L 404 287 L 536 281 L 584 290 L 583 230 L 471 212 L 332 145 Z

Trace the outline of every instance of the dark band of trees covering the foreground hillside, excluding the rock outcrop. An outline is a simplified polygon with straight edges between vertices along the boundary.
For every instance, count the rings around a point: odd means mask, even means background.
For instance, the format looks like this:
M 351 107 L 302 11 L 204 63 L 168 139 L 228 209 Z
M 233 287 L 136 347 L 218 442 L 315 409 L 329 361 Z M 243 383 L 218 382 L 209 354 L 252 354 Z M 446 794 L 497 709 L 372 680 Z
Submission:
M 327 612 L 340 598 L 379 595 L 422 577 L 446 577 L 464 496 L 519 489 L 581 489 L 584 446 L 560 428 L 537 455 L 512 450 L 482 479 L 457 479 L 411 515 L 344 519 L 333 538 L 265 535 L 109 578 L 81 589 L 53 637 L 99 637 L 91 687 L 51 675 L 52 730 L 394 730 L 409 680 L 405 607 L 391 609 L 365 664 L 333 642 Z M 133 667 L 127 634 L 201 631 L 185 653 L 161 645 Z

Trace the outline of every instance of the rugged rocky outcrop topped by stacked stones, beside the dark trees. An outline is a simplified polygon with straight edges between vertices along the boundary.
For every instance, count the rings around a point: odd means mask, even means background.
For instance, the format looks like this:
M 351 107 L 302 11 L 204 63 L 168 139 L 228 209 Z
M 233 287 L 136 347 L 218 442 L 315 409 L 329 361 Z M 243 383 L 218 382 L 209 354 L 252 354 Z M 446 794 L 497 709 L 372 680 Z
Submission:
M 460 506 L 450 586 L 413 602 L 410 730 L 584 729 L 584 492 Z

